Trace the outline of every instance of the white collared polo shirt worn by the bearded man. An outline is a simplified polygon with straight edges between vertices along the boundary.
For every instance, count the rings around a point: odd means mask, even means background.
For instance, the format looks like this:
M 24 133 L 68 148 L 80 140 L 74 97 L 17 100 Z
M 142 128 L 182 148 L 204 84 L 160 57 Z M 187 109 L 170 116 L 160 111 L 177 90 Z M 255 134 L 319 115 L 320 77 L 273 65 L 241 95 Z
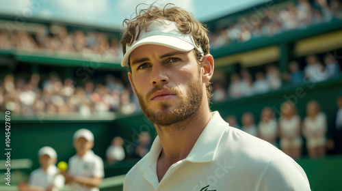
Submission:
M 216 111 L 187 158 L 157 179 L 159 137 L 124 178 L 124 191 L 135 190 L 310 190 L 303 169 L 273 145 L 232 128 Z

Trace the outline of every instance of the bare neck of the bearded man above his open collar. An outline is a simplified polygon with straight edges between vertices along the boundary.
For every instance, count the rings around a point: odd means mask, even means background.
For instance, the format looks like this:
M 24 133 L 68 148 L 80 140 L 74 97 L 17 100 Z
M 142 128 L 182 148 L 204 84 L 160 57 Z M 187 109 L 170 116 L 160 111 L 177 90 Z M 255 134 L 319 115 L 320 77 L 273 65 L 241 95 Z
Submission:
M 158 160 L 170 167 L 186 158 L 210 119 L 209 106 L 202 103 L 189 119 L 172 126 L 156 126 L 163 147 Z

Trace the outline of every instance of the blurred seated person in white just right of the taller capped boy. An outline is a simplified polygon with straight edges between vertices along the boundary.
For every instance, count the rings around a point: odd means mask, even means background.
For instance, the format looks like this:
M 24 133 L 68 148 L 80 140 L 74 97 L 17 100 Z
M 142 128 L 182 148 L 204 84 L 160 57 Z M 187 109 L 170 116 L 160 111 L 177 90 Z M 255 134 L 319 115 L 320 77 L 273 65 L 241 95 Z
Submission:
M 114 164 L 117 161 L 124 160 L 124 140 L 120 136 L 116 136 L 111 141 L 111 145 L 106 151 L 108 164 Z

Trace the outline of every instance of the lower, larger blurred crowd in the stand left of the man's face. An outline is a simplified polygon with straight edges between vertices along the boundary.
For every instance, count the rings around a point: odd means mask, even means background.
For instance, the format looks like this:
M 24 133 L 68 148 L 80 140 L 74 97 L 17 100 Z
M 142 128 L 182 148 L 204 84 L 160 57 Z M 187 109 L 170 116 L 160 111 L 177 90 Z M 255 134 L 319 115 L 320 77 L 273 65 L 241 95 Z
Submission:
M 29 81 L 8 74 L 0 81 L 1 111 L 17 115 L 42 113 L 92 113 L 120 112 L 131 114 L 139 111 L 131 87 L 124 87 L 120 79 L 107 76 L 105 85 L 86 82 L 76 86 L 70 78 L 60 80 L 51 72 L 48 80 L 40 86 L 40 75 L 33 74 Z

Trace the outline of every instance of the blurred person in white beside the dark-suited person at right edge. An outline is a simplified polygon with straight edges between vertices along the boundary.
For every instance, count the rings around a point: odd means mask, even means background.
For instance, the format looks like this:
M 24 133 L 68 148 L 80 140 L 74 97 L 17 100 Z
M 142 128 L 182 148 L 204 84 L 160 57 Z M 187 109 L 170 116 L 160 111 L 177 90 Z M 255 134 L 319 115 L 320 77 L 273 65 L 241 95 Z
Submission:
M 306 105 L 303 135 L 310 158 L 324 157 L 326 154 L 326 115 L 320 111 L 316 101 Z

